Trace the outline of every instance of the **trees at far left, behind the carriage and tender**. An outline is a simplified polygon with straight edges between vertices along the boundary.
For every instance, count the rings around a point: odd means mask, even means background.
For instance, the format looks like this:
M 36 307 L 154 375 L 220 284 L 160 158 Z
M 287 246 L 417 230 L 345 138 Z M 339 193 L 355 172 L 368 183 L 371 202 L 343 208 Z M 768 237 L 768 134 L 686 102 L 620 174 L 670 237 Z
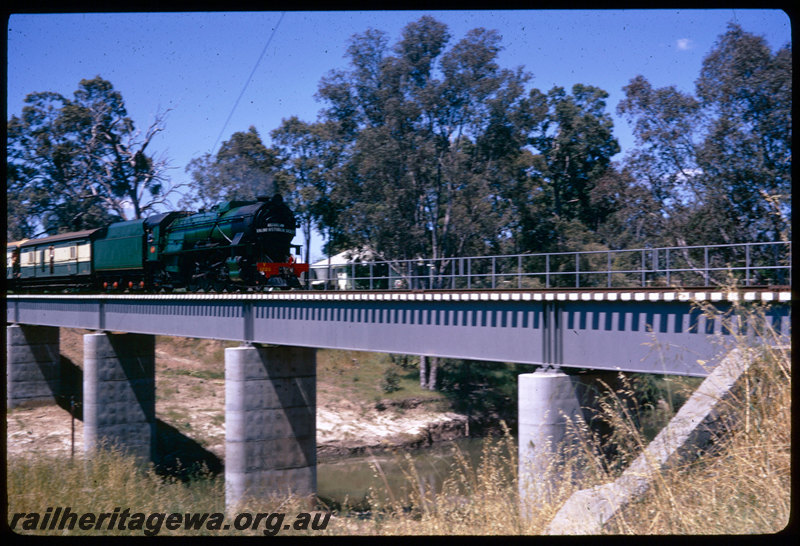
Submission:
M 163 160 L 147 148 L 163 117 L 136 131 L 122 95 L 99 76 L 73 98 L 31 93 L 8 121 L 8 238 L 141 218 L 163 202 Z

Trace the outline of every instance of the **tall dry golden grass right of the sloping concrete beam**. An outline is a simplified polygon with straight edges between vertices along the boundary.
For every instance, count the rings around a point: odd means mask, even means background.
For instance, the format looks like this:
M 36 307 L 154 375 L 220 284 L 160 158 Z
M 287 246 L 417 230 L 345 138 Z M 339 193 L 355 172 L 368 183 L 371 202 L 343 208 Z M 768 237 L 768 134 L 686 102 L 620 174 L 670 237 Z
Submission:
M 760 314 L 734 308 L 731 316 Z M 736 334 L 739 347 L 753 338 Z M 662 472 L 651 491 L 610 522 L 633 534 L 761 534 L 789 523 L 791 365 L 786 340 L 760 332 L 752 364 L 724 402 L 721 430 L 696 461 Z

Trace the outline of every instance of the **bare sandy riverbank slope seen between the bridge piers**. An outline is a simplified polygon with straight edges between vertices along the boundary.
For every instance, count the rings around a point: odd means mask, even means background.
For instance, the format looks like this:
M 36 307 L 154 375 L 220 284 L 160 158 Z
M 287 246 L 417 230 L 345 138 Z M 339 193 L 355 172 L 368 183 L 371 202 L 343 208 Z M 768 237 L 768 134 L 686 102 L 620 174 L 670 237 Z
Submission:
M 61 355 L 66 391 L 80 411 L 83 359 L 81 330 L 61 329 Z M 157 338 L 156 417 L 162 444 L 177 439 L 174 449 L 161 449 L 170 461 L 200 459 L 217 464 L 225 456 L 224 349 L 233 343 Z M 467 417 L 452 411 L 439 393 L 401 383 L 383 392 L 380 380 L 385 355 L 320 351 L 317 366 L 317 457 L 324 461 L 385 450 L 416 449 L 468 434 Z M 61 406 L 17 408 L 7 413 L 9 458 L 83 453 L 83 426 L 74 433 L 68 398 Z M 73 441 L 74 439 L 74 441 Z M 163 448 L 164 446 L 162 446 Z M 205 453 L 205 457 L 203 456 Z

